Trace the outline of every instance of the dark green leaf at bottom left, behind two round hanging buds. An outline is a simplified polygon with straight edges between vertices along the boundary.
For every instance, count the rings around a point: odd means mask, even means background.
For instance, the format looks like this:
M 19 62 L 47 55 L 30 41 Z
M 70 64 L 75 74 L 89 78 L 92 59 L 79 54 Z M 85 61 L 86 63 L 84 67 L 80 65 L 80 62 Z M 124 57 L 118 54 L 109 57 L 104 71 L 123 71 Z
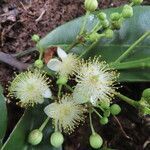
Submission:
M 27 142 L 29 133 L 41 126 L 47 116 L 44 114 L 45 104 L 27 109 L 16 127 L 10 134 L 8 140 L 2 147 L 2 150 L 61 150 L 50 145 L 50 135 L 52 133 L 51 122 L 43 130 L 43 140 L 37 146 L 32 146 Z

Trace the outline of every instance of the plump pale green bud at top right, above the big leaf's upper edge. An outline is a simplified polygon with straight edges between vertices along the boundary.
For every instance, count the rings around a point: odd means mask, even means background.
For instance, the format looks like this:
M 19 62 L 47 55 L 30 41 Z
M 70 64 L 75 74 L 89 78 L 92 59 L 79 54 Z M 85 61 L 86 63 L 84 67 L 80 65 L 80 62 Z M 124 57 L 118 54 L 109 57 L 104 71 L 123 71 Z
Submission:
M 130 18 L 133 16 L 133 8 L 130 5 L 124 5 L 122 11 L 123 18 Z

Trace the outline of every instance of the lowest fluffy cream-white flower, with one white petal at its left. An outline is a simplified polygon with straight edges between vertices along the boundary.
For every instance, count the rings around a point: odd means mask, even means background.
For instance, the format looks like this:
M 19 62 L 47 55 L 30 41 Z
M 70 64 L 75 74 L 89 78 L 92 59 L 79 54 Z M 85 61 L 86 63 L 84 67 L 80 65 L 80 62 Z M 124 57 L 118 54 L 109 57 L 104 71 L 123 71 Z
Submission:
M 63 96 L 59 103 L 55 102 L 45 107 L 44 112 L 54 119 L 60 130 L 71 133 L 80 122 L 84 121 L 85 108 L 73 101 L 72 96 Z

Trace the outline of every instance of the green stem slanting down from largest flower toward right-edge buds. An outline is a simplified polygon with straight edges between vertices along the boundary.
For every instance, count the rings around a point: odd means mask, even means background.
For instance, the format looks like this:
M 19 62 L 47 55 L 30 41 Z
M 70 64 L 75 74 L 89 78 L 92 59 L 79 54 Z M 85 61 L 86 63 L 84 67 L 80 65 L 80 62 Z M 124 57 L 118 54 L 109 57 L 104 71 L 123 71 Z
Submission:
M 125 101 L 126 103 L 130 104 L 131 106 L 137 108 L 139 107 L 139 103 L 131 98 L 128 98 L 127 96 L 124 96 L 120 93 L 116 93 L 116 96 Z

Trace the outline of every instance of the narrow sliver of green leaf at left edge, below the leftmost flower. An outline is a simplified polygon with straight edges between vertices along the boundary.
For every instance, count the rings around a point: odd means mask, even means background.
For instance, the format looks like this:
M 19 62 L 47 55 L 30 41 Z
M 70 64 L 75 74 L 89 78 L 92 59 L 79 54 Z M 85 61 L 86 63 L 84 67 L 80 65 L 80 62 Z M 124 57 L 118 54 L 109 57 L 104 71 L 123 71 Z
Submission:
M 1 114 L 0 116 L 0 148 L 1 148 L 7 128 L 7 108 L 5 97 L 3 95 L 3 88 L 1 85 L 0 85 L 0 114 Z

